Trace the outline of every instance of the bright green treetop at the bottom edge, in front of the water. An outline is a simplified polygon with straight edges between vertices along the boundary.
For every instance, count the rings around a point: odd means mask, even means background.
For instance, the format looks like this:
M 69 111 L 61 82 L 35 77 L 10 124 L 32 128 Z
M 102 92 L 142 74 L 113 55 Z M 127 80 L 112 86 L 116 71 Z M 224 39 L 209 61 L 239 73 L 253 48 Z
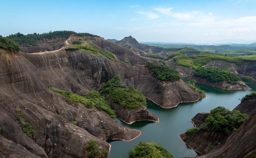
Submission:
M 140 142 L 129 152 L 128 158 L 173 158 L 172 154 L 160 144 Z

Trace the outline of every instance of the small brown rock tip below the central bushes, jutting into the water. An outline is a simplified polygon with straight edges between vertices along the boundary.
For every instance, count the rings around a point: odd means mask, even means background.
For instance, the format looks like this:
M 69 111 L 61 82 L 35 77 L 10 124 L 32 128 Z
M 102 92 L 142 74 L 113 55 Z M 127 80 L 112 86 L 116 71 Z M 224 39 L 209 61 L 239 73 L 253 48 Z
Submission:
M 145 106 L 130 109 L 119 104 L 112 103 L 111 107 L 115 109 L 117 117 L 129 125 L 135 121 L 159 121 L 159 118 L 150 113 Z

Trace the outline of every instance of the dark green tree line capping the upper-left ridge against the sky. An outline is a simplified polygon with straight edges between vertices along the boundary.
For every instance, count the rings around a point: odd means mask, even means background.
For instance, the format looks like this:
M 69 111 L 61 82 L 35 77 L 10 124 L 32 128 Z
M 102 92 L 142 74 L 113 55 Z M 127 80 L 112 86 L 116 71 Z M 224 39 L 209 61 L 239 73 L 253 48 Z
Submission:
M 43 40 L 45 38 L 47 39 L 52 39 L 56 37 L 70 37 L 70 35 L 74 34 L 75 36 L 91 36 L 91 37 L 99 37 L 97 35 L 93 35 L 90 33 L 75 33 L 73 31 L 54 31 L 54 32 L 49 32 L 49 33 L 32 33 L 32 34 L 27 34 L 23 35 L 22 33 L 15 33 L 7 36 L 6 38 L 12 39 L 13 41 L 19 43 L 19 44 L 24 44 L 24 45 L 32 45 L 36 46 L 37 45 L 37 40 Z

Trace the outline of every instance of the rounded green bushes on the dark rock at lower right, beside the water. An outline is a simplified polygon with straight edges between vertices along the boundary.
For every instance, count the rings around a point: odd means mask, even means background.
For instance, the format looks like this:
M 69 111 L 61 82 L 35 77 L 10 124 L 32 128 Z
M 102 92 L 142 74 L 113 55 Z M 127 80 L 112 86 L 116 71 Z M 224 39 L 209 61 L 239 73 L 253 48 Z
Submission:
M 230 135 L 239 128 L 248 118 L 238 110 L 229 111 L 225 107 L 216 107 L 210 111 L 202 125 L 204 130 L 215 130 Z

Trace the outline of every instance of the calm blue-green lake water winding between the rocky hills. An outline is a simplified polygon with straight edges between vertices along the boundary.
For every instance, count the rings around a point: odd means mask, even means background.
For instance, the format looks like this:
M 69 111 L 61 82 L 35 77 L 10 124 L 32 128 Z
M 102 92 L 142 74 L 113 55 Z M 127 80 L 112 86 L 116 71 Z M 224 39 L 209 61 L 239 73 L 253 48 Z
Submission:
M 163 109 L 153 102 L 147 101 L 149 111 L 158 116 L 160 121 L 155 123 L 140 121 L 135 122 L 132 125 L 126 125 L 117 119 L 120 125 L 140 130 L 141 135 L 129 142 L 109 142 L 112 146 L 109 158 L 126 158 L 128 151 L 140 141 L 154 141 L 159 143 L 168 149 L 174 158 L 196 156 L 197 154 L 195 151 L 188 149 L 182 139 L 179 138 L 180 134 L 193 127 L 190 119 L 198 112 L 209 112 L 211 109 L 218 106 L 224 106 L 232 110 L 240 103 L 239 98 L 256 91 L 256 83 L 247 84 L 252 90 L 227 91 L 203 84 L 197 84 L 197 86 L 205 91 L 206 98 L 201 99 L 198 102 L 181 103 L 177 107 L 171 109 Z

